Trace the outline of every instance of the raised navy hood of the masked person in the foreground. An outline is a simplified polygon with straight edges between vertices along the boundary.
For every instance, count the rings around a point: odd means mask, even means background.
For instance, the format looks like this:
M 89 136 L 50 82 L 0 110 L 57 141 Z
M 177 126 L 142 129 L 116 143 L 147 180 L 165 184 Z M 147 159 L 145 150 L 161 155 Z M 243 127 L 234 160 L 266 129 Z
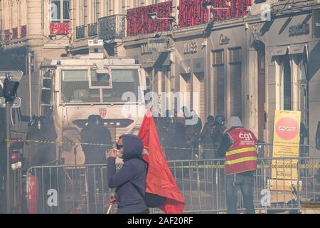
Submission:
M 122 144 L 124 161 L 132 158 L 142 160 L 142 140 L 137 135 L 122 135 Z

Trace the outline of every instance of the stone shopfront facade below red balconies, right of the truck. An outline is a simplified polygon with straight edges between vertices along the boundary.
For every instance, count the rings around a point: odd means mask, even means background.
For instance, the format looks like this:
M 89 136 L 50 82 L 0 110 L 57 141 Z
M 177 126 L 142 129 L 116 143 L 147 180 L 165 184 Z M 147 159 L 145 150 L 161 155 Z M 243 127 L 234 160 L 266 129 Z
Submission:
M 155 37 L 167 41 L 166 53 L 146 48 Z M 260 140 L 272 142 L 274 110 L 299 110 L 309 130 L 305 143 L 314 146 L 319 122 L 318 1 L 255 1 L 240 19 L 129 36 L 123 46 L 146 69 L 151 90 L 191 93 L 183 102 L 201 119 L 238 115 Z

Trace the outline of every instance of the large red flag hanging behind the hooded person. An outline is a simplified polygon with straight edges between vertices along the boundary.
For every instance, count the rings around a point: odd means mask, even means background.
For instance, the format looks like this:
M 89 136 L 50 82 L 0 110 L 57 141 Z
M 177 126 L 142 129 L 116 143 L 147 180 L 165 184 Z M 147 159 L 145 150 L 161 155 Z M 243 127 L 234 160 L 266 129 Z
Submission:
M 144 160 L 149 163 L 146 192 L 166 197 L 166 202 L 160 207 L 166 214 L 181 214 L 185 202 L 162 152 L 150 109 L 144 117 L 138 136 L 142 139 L 144 149 L 148 151 L 147 157 L 144 155 Z

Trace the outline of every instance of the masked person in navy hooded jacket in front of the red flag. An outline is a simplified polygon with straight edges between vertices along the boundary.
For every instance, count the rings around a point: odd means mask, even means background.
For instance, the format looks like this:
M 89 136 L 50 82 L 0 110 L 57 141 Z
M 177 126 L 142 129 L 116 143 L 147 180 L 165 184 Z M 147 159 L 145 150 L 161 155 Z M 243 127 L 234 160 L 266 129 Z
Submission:
M 145 202 L 147 164 L 142 159 L 142 152 L 142 140 L 136 135 L 122 135 L 117 150 L 109 152 L 107 182 L 110 188 L 116 188 L 118 214 L 149 214 Z M 124 161 L 118 171 L 116 157 Z

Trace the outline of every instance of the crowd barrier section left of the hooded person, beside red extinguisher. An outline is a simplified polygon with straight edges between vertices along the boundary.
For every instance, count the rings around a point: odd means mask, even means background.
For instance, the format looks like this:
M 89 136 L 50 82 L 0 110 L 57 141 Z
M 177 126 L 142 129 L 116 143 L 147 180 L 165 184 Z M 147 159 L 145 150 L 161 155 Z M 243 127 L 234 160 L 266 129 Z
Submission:
M 106 165 L 52 165 L 28 170 L 31 214 L 106 213 L 112 190 Z

